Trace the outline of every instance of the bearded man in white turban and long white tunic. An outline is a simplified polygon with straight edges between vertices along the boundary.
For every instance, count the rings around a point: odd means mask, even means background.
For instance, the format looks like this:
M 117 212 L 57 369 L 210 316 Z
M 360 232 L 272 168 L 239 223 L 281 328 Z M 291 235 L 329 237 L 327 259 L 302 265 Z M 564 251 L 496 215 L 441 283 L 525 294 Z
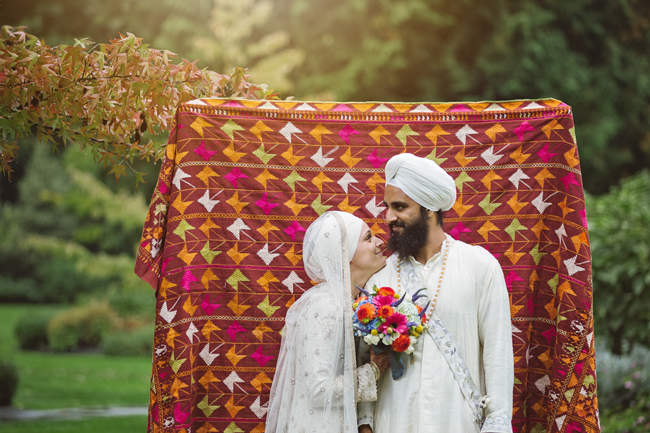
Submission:
M 363 433 L 511 433 L 514 378 L 503 271 L 485 249 L 442 228 L 454 180 L 435 162 L 400 154 L 386 165 L 384 204 L 395 253 L 366 287 L 426 287 L 429 330 L 399 380 L 381 375 L 376 403 L 360 403 Z

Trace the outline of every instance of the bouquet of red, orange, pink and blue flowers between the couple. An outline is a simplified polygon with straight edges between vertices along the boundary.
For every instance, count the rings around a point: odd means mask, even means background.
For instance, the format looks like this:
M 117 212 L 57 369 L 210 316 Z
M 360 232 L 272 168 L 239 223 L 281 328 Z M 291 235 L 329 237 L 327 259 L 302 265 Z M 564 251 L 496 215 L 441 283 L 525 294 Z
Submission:
M 354 335 L 363 338 L 375 353 L 391 350 L 391 371 L 393 379 L 404 374 L 402 354 L 413 353 L 413 345 L 428 325 L 424 308 L 415 304 L 426 297 L 418 290 L 413 296 L 399 294 L 390 287 L 373 286 L 370 291 L 361 290 L 354 301 Z M 396 377 L 397 376 L 397 377 Z

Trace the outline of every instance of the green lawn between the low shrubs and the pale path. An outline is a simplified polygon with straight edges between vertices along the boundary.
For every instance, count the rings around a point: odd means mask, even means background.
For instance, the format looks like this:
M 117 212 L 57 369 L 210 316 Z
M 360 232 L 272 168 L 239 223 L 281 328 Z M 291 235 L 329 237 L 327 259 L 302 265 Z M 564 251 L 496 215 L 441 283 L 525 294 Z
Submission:
M 151 376 L 149 357 L 18 350 L 13 334 L 14 323 L 25 312 L 43 308 L 52 307 L 0 305 L 0 354 L 14 360 L 20 376 L 18 393 L 14 397 L 15 407 L 147 406 Z M 2 431 L 5 430 L 0 429 Z

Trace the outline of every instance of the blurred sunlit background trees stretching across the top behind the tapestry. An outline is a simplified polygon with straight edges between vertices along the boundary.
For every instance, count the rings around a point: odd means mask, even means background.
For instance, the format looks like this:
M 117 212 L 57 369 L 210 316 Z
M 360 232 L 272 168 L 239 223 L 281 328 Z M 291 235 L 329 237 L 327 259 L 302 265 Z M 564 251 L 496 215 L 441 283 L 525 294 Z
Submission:
M 585 188 L 650 165 L 650 3 L 641 0 L 61 0 L 3 6 L 57 43 L 118 29 L 245 63 L 299 99 L 561 99 L 574 109 Z M 8 9 L 7 9 L 8 8 Z M 206 31 L 209 29 L 210 31 Z M 133 30 L 131 30 L 133 32 Z

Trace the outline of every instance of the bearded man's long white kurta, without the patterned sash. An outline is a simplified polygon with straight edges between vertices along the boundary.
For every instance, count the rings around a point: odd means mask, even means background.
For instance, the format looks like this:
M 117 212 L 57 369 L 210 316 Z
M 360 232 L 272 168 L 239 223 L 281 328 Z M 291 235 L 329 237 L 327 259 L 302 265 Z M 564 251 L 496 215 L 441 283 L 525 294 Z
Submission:
M 375 433 L 511 433 L 514 365 L 510 304 L 503 271 L 485 249 L 455 241 L 449 256 L 436 311 L 455 339 L 474 383 L 490 397 L 482 430 L 447 361 L 428 333 L 418 338 L 414 363 L 406 358 L 406 373 L 395 381 L 385 371 L 375 403 L 359 404 L 359 422 L 373 424 Z M 416 274 L 433 299 L 442 270 L 441 253 L 424 265 L 412 257 Z M 404 276 L 402 276 L 403 280 Z M 397 290 L 394 260 L 373 275 L 366 287 Z M 404 287 L 401 287 L 404 290 Z

